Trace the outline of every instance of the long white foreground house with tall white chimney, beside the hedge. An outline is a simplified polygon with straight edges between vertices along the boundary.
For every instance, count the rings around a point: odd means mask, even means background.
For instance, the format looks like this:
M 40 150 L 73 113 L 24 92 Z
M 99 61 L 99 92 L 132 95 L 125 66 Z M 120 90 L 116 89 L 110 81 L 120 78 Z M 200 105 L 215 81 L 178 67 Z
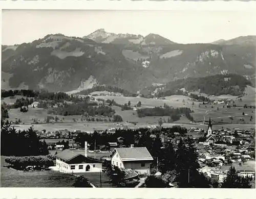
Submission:
M 102 162 L 87 157 L 87 147 L 84 148 L 84 154 L 76 150 L 64 150 L 57 153 L 55 157 L 56 167 L 60 172 L 80 173 L 102 170 Z

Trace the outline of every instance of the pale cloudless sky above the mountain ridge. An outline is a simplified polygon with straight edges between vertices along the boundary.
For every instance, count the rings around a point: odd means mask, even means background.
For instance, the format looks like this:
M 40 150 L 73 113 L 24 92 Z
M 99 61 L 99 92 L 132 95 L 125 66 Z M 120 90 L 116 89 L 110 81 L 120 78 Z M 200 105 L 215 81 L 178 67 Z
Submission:
M 32 42 L 48 34 L 83 37 L 112 33 L 159 34 L 178 43 L 210 43 L 256 35 L 252 11 L 2 10 L 2 44 Z

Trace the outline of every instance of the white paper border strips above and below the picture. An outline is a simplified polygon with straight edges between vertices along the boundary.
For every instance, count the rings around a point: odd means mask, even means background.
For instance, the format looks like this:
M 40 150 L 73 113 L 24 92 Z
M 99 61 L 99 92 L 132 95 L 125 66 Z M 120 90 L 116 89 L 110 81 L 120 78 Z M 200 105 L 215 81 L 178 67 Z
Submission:
M 255 10 L 256 2 L 240 1 L 1 1 L 1 9 L 50 10 Z M 2 11 L 1 11 L 2 14 Z M 2 20 L 2 17 L 0 17 Z M 0 22 L 1 23 L 1 22 Z M 1 23 L 2 24 L 2 23 Z M 253 25 L 254 24 L 254 25 Z M 256 29 L 256 26 L 255 26 Z M 1 37 L 0 37 L 1 42 Z M 0 55 L 1 58 L 1 55 Z M 256 189 L 149 189 L 149 188 L 0 188 L 0 198 L 253 198 Z M 254 195 L 254 196 L 253 196 Z

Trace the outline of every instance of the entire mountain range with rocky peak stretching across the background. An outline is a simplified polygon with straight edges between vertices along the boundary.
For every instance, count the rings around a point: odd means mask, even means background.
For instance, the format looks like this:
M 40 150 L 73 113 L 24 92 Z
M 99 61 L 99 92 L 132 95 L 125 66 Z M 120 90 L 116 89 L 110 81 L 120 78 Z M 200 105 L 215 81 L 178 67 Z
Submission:
M 136 92 L 215 74 L 255 81 L 255 46 L 248 37 L 233 43 L 178 44 L 155 34 L 117 35 L 103 29 L 84 38 L 47 35 L 2 46 L 2 85 L 64 92 L 108 85 Z

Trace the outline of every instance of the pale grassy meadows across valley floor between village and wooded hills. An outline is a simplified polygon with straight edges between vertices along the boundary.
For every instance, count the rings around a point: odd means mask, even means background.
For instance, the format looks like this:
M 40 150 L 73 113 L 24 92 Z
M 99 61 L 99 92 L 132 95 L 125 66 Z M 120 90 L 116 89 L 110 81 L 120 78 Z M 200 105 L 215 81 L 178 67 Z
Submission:
M 251 88 L 247 88 L 252 93 Z M 249 93 L 248 91 L 248 93 Z M 252 94 L 249 93 L 244 96 L 244 101 L 253 101 L 255 97 L 252 97 Z M 254 92 L 255 93 L 255 92 Z M 223 108 L 223 105 L 200 105 L 198 102 L 194 102 L 187 97 L 182 95 L 172 95 L 167 96 L 166 99 L 153 99 L 153 98 L 142 98 L 142 97 L 124 97 L 124 96 L 97 96 L 98 98 L 109 98 L 114 99 L 118 104 L 125 104 L 131 101 L 131 105 L 136 105 L 139 101 L 141 101 L 142 106 L 141 108 L 145 107 L 155 107 L 155 106 L 163 106 L 164 103 L 173 106 L 173 107 L 188 107 L 194 111 L 191 113 L 194 119 L 199 121 L 197 123 L 191 123 L 186 117 L 181 117 L 180 120 L 175 121 L 173 123 L 164 123 L 163 127 L 170 127 L 173 125 L 180 125 L 186 128 L 207 128 L 203 125 L 203 120 L 208 121 L 209 117 L 213 123 L 215 122 L 224 122 L 229 123 L 228 125 L 214 125 L 215 128 L 221 129 L 223 128 L 241 128 L 241 129 L 250 129 L 255 128 L 255 110 L 250 108 Z M 223 96 L 222 96 L 223 97 Z M 230 96 L 228 96 L 230 97 Z M 249 105 L 249 103 L 247 103 Z M 123 118 L 122 123 L 124 126 L 128 128 L 139 128 L 139 127 L 146 127 L 148 124 L 158 124 L 158 120 L 160 117 L 158 116 L 146 116 L 139 118 L 137 115 L 137 111 L 127 110 L 122 111 L 120 107 L 113 106 L 113 109 L 116 111 L 116 114 L 119 114 Z M 245 115 L 242 115 L 242 113 Z M 9 111 L 9 120 L 15 121 L 16 119 L 21 119 L 24 124 L 15 125 L 15 128 L 20 130 L 27 130 L 33 122 L 33 119 L 36 118 L 38 121 L 44 121 L 47 117 L 47 110 L 46 109 L 29 109 L 26 113 L 20 113 L 18 109 L 11 109 Z M 54 116 L 54 115 L 53 115 Z M 230 119 L 230 116 L 232 119 Z M 252 121 L 250 121 L 250 116 L 253 117 Z M 81 131 L 95 131 L 95 130 L 106 130 L 110 128 L 115 128 L 115 124 L 113 122 L 87 122 L 81 121 L 80 115 L 72 115 L 72 116 L 60 116 L 61 122 L 55 122 L 54 124 L 47 124 L 47 123 L 39 123 L 37 125 L 33 125 L 35 130 L 43 130 L 46 129 L 47 131 L 57 131 L 67 129 L 69 131 L 81 130 Z M 76 121 L 73 121 L 73 118 Z M 168 116 L 163 116 L 163 120 L 167 122 Z M 244 121 L 243 121 L 244 120 Z M 126 121 L 135 121 L 138 122 L 137 126 L 134 126 L 132 123 L 125 123 Z M 119 127 L 117 127 L 119 128 Z

